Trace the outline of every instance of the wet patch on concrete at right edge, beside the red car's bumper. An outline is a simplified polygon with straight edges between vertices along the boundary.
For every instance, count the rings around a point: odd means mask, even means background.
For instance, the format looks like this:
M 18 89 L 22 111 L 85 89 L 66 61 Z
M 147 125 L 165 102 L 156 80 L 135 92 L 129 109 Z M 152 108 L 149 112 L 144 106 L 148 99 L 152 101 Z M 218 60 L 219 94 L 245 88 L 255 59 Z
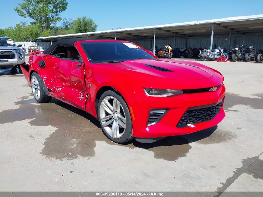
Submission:
M 238 110 L 231 110 L 235 105 L 246 105 L 251 106 L 253 109 L 263 109 L 263 94 L 254 94 L 254 96 L 258 96 L 261 98 L 249 98 L 245 96 L 240 96 L 239 94 L 234 93 L 226 93 L 225 101 L 224 101 L 224 108 L 226 111 L 238 111 Z

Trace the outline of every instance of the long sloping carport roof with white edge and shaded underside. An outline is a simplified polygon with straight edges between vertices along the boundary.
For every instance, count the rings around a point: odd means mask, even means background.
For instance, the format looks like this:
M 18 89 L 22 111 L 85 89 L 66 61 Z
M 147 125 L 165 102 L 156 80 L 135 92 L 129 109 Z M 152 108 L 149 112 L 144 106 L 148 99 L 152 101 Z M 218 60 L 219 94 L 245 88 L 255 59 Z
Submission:
M 195 35 L 211 35 L 211 26 L 214 24 L 214 34 L 227 34 L 232 30 L 233 34 L 245 34 L 250 32 L 263 32 L 263 14 L 252 16 L 236 16 L 213 20 L 192 21 L 165 25 L 124 28 L 118 30 L 94 31 L 79 34 L 54 35 L 39 37 L 40 40 L 59 40 L 65 38 L 116 38 L 131 40 L 152 39 L 153 29 L 156 37 L 192 37 Z

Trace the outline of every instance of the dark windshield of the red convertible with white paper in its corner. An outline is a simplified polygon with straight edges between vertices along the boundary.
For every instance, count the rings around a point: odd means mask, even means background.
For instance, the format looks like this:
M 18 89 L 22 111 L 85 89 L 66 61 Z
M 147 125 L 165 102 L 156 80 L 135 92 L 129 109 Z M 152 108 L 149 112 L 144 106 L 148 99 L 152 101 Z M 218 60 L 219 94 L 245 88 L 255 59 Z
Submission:
M 87 42 L 81 44 L 91 63 L 117 63 L 132 59 L 155 59 L 127 42 Z

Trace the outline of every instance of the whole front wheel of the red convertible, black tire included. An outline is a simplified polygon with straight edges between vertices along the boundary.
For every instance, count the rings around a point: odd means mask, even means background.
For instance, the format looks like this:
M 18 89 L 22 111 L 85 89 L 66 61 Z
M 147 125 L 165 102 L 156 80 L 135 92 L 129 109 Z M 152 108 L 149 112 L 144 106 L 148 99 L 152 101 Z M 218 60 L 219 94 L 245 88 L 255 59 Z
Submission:
M 122 96 L 108 90 L 101 95 L 98 104 L 98 118 L 103 133 L 116 143 L 132 140 L 132 120 L 127 104 Z

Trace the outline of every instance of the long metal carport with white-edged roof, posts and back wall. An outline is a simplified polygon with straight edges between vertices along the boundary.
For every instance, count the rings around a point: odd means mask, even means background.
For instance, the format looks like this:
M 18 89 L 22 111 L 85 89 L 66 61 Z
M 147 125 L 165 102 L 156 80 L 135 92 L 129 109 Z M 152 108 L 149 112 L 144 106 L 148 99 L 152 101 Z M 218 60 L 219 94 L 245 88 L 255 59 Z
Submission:
M 255 40 L 255 35 L 257 36 L 256 38 L 258 40 Z M 42 41 L 51 41 L 51 43 L 52 41 L 65 38 L 85 37 L 131 40 L 135 43 L 141 40 L 150 40 L 153 43 L 153 45 L 151 44 L 151 47 L 155 49 L 155 43 L 157 39 L 169 39 L 170 42 L 173 39 L 174 43 L 172 44 L 176 46 L 176 39 L 185 38 L 187 45 L 187 39 L 193 40 L 197 37 L 207 39 L 208 36 L 210 38 L 209 47 L 212 47 L 213 45 L 214 36 L 224 37 L 224 39 L 227 40 L 227 43 L 224 42 L 225 45 L 227 44 L 227 49 L 230 49 L 231 47 L 231 39 L 234 37 L 237 39 L 237 37 L 239 37 L 238 39 L 240 40 L 240 36 L 242 38 L 243 44 L 245 42 L 246 36 L 251 36 L 251 39 L 254 38 L 253 42 L 257 44 L 257 47 L 263 47 L 263 14 L 166 25 L 125 28 L 118 30 L 95 31 L 79 34 L 55 35 L 48 37 L 39 37 L 37 39 Z M 236 41 L 234 43 L 236 43 Z M 145 46 L 143 47 L 145 48 Z

